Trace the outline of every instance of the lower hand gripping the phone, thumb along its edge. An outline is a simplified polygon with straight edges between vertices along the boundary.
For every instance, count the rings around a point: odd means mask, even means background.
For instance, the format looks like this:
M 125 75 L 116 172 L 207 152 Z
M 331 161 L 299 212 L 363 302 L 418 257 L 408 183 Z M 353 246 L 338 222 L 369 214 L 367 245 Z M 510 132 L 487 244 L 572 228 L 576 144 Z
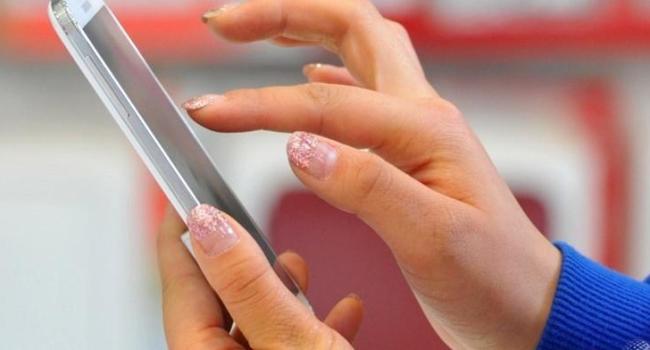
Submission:
M 344 298 L 324 323 L 320 322 L 284 287 L 259 246 L 237 223 L 207 206 L 198 207 L 193 214 L 190 224 L 198 266 L 180 240 L 185 226 L 172 209 L 158 236 L 170 349 L 351 348 L 349 342 L 363 316 L 358 297 Z M 295 253 L 284 253 L 278 261 L 306 290 L 304 260 Z M 228 334 L 222 305 L 243 334 Z

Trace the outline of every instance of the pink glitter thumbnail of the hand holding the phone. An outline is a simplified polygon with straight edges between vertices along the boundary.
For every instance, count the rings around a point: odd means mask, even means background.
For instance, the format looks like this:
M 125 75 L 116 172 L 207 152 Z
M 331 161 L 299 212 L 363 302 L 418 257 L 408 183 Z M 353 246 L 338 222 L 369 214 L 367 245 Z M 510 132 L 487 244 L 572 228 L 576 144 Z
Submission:
M 207 256 L 219 256 L 239 242 L 239 236 L 218 209 L 201 204 L 192 209 L 187 218 L 187 227 Z

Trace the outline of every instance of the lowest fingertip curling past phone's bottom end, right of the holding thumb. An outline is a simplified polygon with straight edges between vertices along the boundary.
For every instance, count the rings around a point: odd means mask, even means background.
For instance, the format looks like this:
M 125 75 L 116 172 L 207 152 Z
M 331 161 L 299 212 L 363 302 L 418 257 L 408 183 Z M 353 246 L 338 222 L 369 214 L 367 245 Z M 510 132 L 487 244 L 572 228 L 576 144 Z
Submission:
M 363 302 L 356 294 L 339 301 L 325 318 L 325 324 L 352 343 L 363 321 Z

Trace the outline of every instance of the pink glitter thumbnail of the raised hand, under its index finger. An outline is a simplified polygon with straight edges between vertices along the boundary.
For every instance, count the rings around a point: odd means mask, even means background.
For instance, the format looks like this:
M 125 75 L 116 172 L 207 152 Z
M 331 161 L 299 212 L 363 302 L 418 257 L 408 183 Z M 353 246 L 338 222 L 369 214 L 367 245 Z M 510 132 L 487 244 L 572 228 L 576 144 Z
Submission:
M 304 132 L 291 135 L 287 154 L 295 167 L 320 180 L 332 174 L 338 158 L 336 148 Z

